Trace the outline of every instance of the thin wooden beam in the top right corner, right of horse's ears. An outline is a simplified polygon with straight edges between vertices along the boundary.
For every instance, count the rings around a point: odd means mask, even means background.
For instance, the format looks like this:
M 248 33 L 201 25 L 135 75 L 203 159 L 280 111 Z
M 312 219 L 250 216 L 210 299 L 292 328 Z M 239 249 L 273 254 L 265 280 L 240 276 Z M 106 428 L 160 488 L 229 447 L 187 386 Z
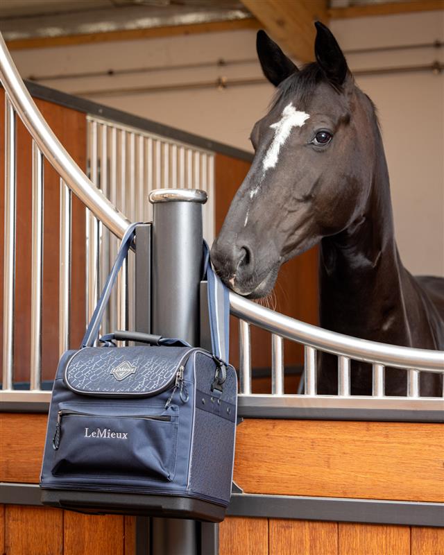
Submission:
M 412 0 L 410 2 L 388 2 L 368 4 L 367 6 L 350 6 L 348 8 L 331 8 L 331 19 L 348 19 L 350 17 L 368 17 L 370 15 L 394 15 L 397 13 L 427 12 L 444 10 L 444 0 Z

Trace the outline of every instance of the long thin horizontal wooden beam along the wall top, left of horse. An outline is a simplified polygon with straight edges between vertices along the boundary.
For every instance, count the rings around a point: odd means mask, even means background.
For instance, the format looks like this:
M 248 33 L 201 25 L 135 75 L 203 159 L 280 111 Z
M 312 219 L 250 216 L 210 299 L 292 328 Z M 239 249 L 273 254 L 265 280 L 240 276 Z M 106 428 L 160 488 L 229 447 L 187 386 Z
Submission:
M 254 17 L 234 19 L 233 21 L 198 23 L 190 25 L 173 25 L 151 27 L 146 29 L 130 29 L 110 31 L 109 33 L 93 33 L 90 35 L 66 35 L 62 37 L 35 37 L 29 39 L 9 40 L 9 50 L 50 48 L 53 46 L 71 46 L 73 44 L 94 44 L 121 40 L 153 39 L 173 37 L 177 35 L 196 35 L 199 33 L 219 33 L 221 31 L 237 31 L 239 29 L 257 29 L 259 22 Z

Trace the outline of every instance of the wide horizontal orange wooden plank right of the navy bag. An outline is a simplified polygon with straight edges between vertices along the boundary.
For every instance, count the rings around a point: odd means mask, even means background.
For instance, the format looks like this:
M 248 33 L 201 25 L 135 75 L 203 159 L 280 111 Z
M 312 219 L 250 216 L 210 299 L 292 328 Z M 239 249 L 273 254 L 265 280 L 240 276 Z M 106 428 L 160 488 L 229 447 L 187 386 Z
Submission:
M 250 419 L 234 480 L 247 493 L 443 502 L 443 447 L 440 424 Z

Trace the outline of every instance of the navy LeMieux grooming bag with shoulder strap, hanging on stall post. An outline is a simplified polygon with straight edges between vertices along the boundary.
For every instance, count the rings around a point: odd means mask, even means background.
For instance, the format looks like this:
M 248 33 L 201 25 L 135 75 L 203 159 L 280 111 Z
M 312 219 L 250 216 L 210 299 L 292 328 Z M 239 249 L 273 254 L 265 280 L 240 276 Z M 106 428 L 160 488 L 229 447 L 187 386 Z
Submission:
M 237 376 L 228 364 L 228 291 L 205 257 L 212 350 L 114 332 L 93 347 L 135 225 L 82 346 L 60 359 L 40 486 L 42 502 L 89 513 L 220 522 L 230 501 Z M 146 345 L 116 347 L 114 340 Z

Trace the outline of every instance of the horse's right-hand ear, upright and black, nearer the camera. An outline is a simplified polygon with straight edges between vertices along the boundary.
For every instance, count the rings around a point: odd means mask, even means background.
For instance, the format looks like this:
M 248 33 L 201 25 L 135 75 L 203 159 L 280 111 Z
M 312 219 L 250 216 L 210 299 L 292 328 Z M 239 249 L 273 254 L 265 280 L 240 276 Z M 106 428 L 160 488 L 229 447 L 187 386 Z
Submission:
M 316 22 L 314 53 L 325 76 L 334 84 L 342 85 L 347 76 L 347 61 L 332 31 L 321 22 Z

